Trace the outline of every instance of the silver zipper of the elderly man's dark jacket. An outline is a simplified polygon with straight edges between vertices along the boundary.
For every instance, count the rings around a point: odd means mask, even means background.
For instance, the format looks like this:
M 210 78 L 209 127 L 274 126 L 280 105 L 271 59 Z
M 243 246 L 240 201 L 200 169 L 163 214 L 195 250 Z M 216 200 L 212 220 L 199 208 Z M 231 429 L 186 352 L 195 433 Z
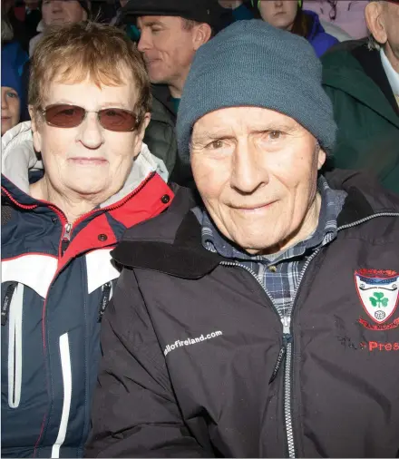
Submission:
M 373 220 L 377 217 L 399 217 L 399 213 L 397 212 L 382 212 L 382 213 L 377 213 L 375 215 L 370 215 L 369 217 L 365 217 L 364 219 L 361 220 L 356 220 L 353 223 L 348 223 L 346 225 L 342 225 L 336 229 L 336 231 L 340 231 L 342 229 L 348 229 L 348 228 L 354 228 L 357 225 L 360 225 L 362 223 L 365 223 L 365 221 L 368 220 Z M 294 312 L 294 307 L 295 303 L 297 301 L 297 295 L 298 292 L 302 286 L 302 281 L 303 278 L 305 277 L 305 273 L 307 271 L 307 267 L 309 266 L 310 262 L 316 257 L 316 255 L 320 252 L 322 248 L 316 249 L 313 254 L 307 259 L 305 266 L 303 267 L 299 279 L 298 279 L 298 285 L 297 285 L 297 290 L 294 293 L 294 298 L 292 301 L 292 308 L 291 308 L 291 314 L 290 317 L 283 317 L 281 314 L 278 313 L 278 309 L 276 308 L 276 305 L 271 297 L 271 295 L 268 292 L 268 288 L 266 288 L 265 285 L 263 285 L 263 282 L 258 278 L 257 273 L 255 273 L 252 269 L 249 269 L 248 267 L 241 265 L 240 263 L 236 263 L 233 261 L 222 261 L 220 265 L 222 266 L 230 266 L 230 267 L 238 267 L 241 269 L 245 269 L 248 271 L 258 282 L 261 288 L 263 288 L 264 292 L 266 293 L 268 299 L 270 300 L 271 304 L 273 305 L 273 308 L 275 309 L 275 312 L 277 313 L 278 317 L 281 320 L 281 323 L 283 325 L 283 344 L 282 347 L 280 348 L 277 356 L 277 362 L 274 367 L 272 376 L 270 377 L 269 383 L 273 382 L 278 374 L 278 370 L 282 366 L 283 363 L 285 363 L 285 372 L 284 372 L 284 417 L 285 417 L 285 427 L 286 427 L 286 435 L 287 435 L 287 453 L 289 458 L 295 458 L 296 457 L 296 444 L 295 444 L 295 438 L 294 438 L 294 429 L 292 425 L 292 353 L 293 353 L 293 345 L 294 345 L 294 340 L 293 340 L 293 331 L 292 331 L 292 317 L 293 317 L 293 312 Z

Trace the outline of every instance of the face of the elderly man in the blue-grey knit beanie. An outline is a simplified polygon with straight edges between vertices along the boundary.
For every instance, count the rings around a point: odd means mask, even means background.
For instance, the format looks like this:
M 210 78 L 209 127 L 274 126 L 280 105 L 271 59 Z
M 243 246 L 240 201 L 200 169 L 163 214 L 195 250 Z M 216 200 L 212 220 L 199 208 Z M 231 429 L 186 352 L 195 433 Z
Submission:
M 276 253 L 315 229 L 317 171 L 326 154 L 288 116 L 258 107 L 195 123 L 191 167 L 219 231 L 248 253 Z

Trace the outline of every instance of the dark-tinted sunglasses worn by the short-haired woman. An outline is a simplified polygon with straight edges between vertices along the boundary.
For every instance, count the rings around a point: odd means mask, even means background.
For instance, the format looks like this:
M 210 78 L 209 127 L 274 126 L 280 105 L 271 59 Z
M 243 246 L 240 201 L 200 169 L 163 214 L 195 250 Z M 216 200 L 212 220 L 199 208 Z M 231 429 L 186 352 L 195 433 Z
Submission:
M 57 128 L 75 128 L 83 122 L 87 113 L 97 113 L 98 121 L 108 131 L 130 132 L 140 125 L 140 119 L 133 112 L 122 108 L 110 107 L 90 112 L 78 105 L 56 103 L 45 107 L 42 113 L 45 122 Z

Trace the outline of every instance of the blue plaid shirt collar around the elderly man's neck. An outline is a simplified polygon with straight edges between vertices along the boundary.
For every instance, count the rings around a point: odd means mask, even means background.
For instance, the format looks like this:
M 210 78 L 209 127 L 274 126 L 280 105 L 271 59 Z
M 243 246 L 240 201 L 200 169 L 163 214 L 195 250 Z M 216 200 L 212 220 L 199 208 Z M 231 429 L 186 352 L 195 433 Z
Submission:
M 321 208 L 316 231 L 308 239 L 298 242 L 297 245 L 284 252 L 268 255 L 268 257 L 249 255 L 224 238 L 210 219 L 207 210 L 200 211 L 197 208 L 194 213 L 199 218 L 199 223 L 202 227 L 202 245 L 205 249 L 218 252 L 219 255 L 227 259 L 261 261 L 268 265 L 276 265 L 283 260 L 301 257 L 306 252 L 322 247 L 336 238 L 336 219 L 342 210 L 347 193 L 341 190 L 332 190 L 323 176 L 320 176 L 317 181 L 317 190 L 321 195 Z

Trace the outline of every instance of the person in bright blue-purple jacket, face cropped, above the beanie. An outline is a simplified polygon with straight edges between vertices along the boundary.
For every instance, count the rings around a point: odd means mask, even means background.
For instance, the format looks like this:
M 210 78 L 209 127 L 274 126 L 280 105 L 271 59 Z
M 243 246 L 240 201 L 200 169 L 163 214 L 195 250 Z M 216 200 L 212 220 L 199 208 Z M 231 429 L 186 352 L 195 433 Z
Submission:
M 252 5 L 255 6 L 252 0 Z M 303 36 L 313 46 L 316 55 L 320 57 L 326 51 L 338 44 L 335 36 L 326 31 L 313 11 L 302 9 L 302 0 L 258 0 L 258 17 L 278 29 L 287 30 Z

